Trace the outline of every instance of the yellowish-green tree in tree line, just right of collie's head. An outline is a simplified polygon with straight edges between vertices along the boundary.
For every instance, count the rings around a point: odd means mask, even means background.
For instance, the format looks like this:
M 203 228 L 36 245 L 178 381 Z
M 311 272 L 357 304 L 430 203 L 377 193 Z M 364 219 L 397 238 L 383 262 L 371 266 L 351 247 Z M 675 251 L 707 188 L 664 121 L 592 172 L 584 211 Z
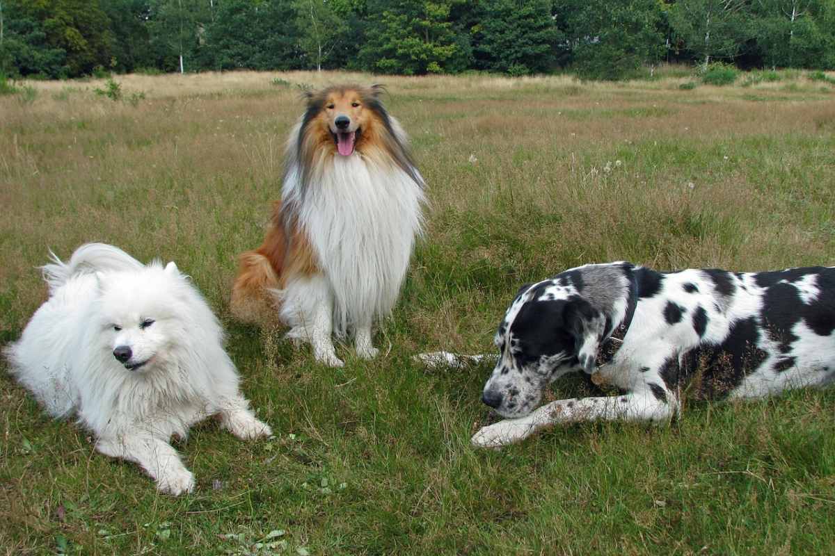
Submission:
M 453 27 L 453 5 L 465 0 L 404 2 L 369 0 L 362 67 L 381 73 L 417 75 L 462 69 L 461 29 Z

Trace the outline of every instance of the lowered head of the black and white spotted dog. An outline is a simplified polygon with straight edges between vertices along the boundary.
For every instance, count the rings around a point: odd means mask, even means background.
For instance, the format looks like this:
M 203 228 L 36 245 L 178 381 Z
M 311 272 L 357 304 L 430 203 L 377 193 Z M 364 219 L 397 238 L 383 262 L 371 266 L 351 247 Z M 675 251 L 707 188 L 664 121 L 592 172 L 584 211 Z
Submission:
M 594 372 L 600 341 L 625 313 L 627 271 L 586 266 L 519 289 L 498 326 L 499 358 L 483 403 L 504 418 L 523 417 L 556 378 Z

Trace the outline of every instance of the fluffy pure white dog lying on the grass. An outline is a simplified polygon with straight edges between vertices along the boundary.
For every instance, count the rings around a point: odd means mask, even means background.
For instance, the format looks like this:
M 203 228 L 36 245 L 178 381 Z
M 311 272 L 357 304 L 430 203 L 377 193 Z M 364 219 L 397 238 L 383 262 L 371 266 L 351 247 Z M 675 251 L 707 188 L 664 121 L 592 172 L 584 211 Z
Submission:
M 53 417 L 76 413 L 99 452 L 139 463 L 175 495 L 195 478 L 172 435 L 210 415 L 238 438 L 271 434 L 240 394 L 220 323 L 175 263 L 145 266 L 103 243 L 53 259 L 48 301 L 5 350 Z

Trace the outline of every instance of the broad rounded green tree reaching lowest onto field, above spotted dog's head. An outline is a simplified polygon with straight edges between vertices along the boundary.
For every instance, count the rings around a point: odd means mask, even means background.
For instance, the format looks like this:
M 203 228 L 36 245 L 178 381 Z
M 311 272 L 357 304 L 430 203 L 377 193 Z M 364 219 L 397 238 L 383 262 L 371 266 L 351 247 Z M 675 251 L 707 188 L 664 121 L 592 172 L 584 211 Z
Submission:
M 555 9 L 570 61 L 582 78 L 634 77 L 642 65 L 662 56 L 665 38 L 657 0 L 569 0 Z

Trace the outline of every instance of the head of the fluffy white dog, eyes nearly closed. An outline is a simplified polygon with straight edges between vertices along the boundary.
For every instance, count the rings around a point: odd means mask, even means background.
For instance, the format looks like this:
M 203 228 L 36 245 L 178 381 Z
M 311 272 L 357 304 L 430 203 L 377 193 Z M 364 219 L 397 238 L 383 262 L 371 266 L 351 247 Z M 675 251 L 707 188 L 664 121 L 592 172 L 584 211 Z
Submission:
M 99 338 L 104 356 L 134 373 L 149 373 L 219 335 L 214 315 L 175 263 L 137 271 L 96 273 Z M 215 333 L 211 333 L 215 330 Z

